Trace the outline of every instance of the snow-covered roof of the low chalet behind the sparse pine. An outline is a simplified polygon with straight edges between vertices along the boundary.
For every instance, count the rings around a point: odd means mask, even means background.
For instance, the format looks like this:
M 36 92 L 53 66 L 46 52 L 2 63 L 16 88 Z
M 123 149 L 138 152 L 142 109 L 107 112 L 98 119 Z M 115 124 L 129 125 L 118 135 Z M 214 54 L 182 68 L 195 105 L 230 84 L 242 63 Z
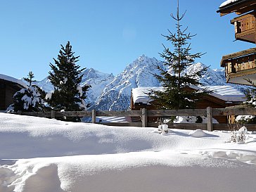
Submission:
M 198 89 L 207 89 L 213 91 L 210 95 L 222 99 L 226 102 L 243 102 L 245 101 L 245 95 L 235 89 L 234 87 L 227 86 L 206 86 L 200 87 Z M 132 97 L 134 103 L 149 103 L 152 101 L 152 98 L 148 96 L 148 93 L 151 93 L 151 90 L 162 90 L 162 87 L 138 87 L 132 89 Z

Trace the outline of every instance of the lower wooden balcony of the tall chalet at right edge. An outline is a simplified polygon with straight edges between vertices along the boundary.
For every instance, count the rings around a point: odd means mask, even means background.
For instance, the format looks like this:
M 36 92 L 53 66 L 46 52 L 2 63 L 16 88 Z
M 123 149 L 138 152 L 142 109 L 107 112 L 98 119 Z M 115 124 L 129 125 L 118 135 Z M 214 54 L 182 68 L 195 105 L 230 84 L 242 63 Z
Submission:
M 225 68 L 226 82 L 250 85 L 250 79 L 256 84 L 256 48 L 223 56 L 221 66 Z

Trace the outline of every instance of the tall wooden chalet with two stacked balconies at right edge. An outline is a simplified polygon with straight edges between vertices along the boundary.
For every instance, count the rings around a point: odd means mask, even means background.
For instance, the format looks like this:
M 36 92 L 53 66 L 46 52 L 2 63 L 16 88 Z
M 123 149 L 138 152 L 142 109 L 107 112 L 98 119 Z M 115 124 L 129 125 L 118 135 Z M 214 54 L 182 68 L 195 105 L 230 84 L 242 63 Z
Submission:
M 238 17 L 231 20 L 236 40 L 256 43 L 256 0 L 225 1 L 217 13 L 236 13 Z M 223 56 L 221 66 L 225 68 L 226 82 L 250 85 L 250 79 L 256 84 L 256 48 Z

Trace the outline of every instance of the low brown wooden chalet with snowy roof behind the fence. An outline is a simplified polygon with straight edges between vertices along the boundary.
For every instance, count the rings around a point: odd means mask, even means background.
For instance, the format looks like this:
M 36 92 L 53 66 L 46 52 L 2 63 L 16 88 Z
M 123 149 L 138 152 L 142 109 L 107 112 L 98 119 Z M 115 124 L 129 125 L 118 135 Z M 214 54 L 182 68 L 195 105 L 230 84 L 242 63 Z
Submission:
M 245 101 L 245 96 L 241 91 L 234 89 L 231 86 L 208 86 L 202 87 L 209 91 L 211 94 L 207 94 L 200 101 L 196 101 L 197 109 L 211 108 L 226 108 L 234 105 L 239 105 Z M 140 110 L 141 108 L 146 108 L 147 110 L 154 110 L 154 101 L 148 93 L 152 90 L 161 90 L 160 87 L 139 87 L 132 89 L 131 96 L 131 110 Z M 199 88 L 197 88 L 199 89 Z M 195 90 L 191 88 L 191 90 Z M 219 123 L 227 123 L 228 118 L 225 116 L 214 117 Z M 156 121 L 156 120 L 151 120 Z

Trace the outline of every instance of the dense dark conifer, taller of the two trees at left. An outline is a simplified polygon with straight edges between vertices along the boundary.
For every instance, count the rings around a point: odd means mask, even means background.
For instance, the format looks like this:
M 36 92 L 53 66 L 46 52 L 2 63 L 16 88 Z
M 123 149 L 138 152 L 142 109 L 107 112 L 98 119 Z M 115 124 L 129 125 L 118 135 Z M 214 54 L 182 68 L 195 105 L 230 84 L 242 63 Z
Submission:
M 90 86 L 80 87 L 82 75 L 80 73 L 86 69 L 76 65 L 79 56 L 74 56 L 70 41 L 61 49 L 58 58 L 54 60 L 55 65 L 50 63 L 52 72 L 49 72 L 49 79 L 53 84 L 54 91 L 51 96 L 48 95 L 48 103 L 52 110 L 81 111 L 86 110 L 84 99 Z M 62 119 L 64 120 L 64 119 Z M 79 118 L 67 118 L 68 121 L 79 122 Z

